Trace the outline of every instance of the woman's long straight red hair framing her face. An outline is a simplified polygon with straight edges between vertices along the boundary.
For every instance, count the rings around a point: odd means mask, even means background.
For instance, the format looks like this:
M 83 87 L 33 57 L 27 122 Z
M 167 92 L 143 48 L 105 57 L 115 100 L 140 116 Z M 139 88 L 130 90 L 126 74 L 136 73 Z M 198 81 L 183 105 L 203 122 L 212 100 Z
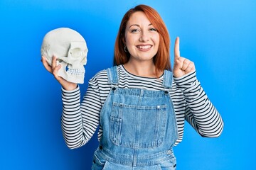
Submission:
M 159 49 L 153 58 L 156 66 L 156 76 L 158 77 L 159 72 L 164 71 L 164 69 L 171 70 L 170 38 L 161 16 L 150 6 L 135 6 L 124 14 L 117 34 L 117 39 L 114 44 L 114 65 L 125 64 L 129 60 L 129 52 L 124 51 L 125 28 L 127 27 L 127 22 L 129 21 L 132 13 L 137 11 L 142 11 L 159 33 Z

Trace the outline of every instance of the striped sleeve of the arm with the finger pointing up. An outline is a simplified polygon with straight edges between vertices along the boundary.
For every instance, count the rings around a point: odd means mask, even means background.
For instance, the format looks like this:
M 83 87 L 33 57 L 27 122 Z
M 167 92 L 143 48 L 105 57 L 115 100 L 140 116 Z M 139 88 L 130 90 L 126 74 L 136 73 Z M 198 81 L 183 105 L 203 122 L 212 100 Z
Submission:
M 185 119 L 203 137 L 218 137 L 223 131 L 223 120 L 196 79 L 196 72 L 175 78 L 176 86 L 186 100 Z

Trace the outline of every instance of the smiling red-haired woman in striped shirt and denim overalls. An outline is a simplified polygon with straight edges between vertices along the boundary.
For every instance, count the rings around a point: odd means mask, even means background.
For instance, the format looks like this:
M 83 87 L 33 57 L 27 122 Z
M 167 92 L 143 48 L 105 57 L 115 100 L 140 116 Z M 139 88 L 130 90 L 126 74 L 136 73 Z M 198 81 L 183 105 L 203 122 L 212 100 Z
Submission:
M 114 67 L 90 79 L 80 104 L 77 84 L 57 76 L 60 65 L 44 66 L 63 86 L 63 136 L 71 149 L 90 140 L 98 125 L 100 145 L 92 169 L 176 169 L 173 147 L 184 120 L 203 137 L 218 137 L 223 120 L 210 103 L 190 60 L 175 42 L 174 69 L 169 34 L 159 13 L 139 5 L 122 19 Z

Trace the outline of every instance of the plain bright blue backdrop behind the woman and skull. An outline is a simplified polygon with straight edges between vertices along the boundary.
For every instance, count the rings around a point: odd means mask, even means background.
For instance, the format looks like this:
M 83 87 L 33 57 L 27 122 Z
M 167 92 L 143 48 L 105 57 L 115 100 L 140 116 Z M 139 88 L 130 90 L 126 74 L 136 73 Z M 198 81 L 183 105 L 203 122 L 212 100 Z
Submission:
M 112 66 L 114 40 L 124 13 L 152 6 L 164 19 L 181 55 L 197 76 L 225 128 L 219 138 L 200 137 L 186 124 L 175 147 L 178 170 L 255 169 L 256 1 L 0 1 L 0 169 L 90 169 L 97 135 L 84 147 L 66 147 L 60 129 L 60 85 L 41 64 L 43 36 L 69 27 L 89 48 L 85 84 Z

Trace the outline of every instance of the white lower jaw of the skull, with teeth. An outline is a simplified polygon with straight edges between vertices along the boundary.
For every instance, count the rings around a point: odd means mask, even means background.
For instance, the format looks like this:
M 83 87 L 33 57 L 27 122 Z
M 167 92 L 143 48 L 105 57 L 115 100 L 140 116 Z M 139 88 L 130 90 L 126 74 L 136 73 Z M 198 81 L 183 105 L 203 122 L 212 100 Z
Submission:
M 63 79 L 75 83 L 75 84 L 83 84 L 85 79 L 85 67 L 79 67 L 75 69 L 68 69 L 67 71 L 65 68 L 67 64 L 61 64 L 61 68 L 58 71 L 58 76 L 62 77 Z

